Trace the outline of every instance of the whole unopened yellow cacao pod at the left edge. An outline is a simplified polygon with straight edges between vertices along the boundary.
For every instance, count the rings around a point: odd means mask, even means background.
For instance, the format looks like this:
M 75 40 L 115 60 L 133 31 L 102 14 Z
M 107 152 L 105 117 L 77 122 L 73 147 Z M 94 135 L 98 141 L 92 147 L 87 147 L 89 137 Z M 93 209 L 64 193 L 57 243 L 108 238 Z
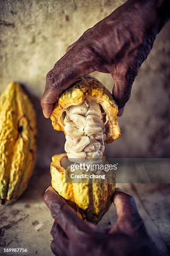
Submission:
M 0 199 L 17 200 L 35 164 L 36 116 L 28 96 L 11 82 L 0 95 Z

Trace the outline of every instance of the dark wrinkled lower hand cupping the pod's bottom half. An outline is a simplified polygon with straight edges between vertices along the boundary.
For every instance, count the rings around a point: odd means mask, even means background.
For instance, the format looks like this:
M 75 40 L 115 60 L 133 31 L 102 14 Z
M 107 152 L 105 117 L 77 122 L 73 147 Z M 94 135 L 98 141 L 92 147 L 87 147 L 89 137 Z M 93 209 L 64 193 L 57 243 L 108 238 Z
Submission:
M 52 187 L 46 190 L 44 201 L 55 219 L 51 249 L 57 256 L 160 255 L 148 236 L 134 198 L 121 189 L 116 189 L 113 196 L 117 222 L 107 230 L 81 220 Z

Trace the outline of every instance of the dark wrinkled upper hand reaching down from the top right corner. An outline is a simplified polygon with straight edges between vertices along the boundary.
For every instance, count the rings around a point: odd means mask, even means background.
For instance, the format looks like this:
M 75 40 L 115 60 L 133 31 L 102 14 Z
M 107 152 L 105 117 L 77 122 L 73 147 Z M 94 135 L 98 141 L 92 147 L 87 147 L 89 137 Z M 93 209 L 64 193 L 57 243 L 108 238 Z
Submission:
M 169 10 L 168 0 L 128 0 L 85 31 L 47 73 L 41 99 L 45 117 L 50 117 L 62 90 L 93 71 L 112 75 L 115 83 L 112 95 L 118 108 L 123 108 L 139 67 L 169 18 Z

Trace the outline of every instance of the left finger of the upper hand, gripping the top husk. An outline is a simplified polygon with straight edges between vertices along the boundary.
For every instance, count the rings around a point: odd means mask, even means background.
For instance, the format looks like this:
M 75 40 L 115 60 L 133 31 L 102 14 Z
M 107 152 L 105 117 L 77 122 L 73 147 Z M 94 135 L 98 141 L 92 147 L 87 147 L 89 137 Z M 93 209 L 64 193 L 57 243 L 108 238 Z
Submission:
M 47 73 L 45 92 L 41 98 L 41 106 L 46 118 L 50 117 L 58 95 L 72 84 L 78 77 L 94 71 L 93 56 L 89 47 L 73 47 L 65 54 L 54 68 Z

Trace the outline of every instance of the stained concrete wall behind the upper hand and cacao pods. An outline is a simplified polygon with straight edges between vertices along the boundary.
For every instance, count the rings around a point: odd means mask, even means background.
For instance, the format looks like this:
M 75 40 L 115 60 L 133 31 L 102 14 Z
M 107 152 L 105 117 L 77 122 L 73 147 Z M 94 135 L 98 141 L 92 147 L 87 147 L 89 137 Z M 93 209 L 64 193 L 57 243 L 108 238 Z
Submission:
M 1 0 L 0 92 L 10 81 L 25 85 L 37 111 L 37 168 L 64 152 L 64 135 L 41 111 L 45 76 L 81 34 L 125 1 Z M 170 157 L 170 23 L 157 36 L 140 68 L 130 101 L 119 118 L 121 137 L 107 145 L 108 157 Z M 112 90 L 109 74 L 93 74 Z

